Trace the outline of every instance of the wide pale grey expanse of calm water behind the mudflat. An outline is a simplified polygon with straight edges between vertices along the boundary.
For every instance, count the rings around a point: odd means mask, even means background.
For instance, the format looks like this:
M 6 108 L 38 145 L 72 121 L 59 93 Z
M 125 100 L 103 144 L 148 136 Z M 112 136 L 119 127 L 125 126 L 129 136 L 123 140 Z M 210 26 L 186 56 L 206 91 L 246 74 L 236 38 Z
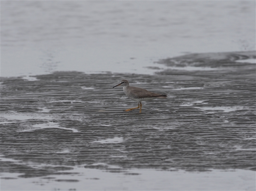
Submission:
M 153 74 L 146 67 L 166 57 L 255 50 L 255 1 L 3 1 L 1 6 L 2 76 Z M 176 69 L 212 69 L 187 67 Z

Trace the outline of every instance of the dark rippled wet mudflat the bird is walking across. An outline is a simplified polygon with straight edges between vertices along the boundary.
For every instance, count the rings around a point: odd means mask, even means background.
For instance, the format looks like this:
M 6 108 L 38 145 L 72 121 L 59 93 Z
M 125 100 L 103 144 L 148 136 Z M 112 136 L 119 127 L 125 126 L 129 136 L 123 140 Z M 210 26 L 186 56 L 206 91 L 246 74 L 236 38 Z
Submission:
M 254 172 L 256 65 L 235 62 L 250 58 L 255 51 L 191 54 L 160 60 L 167 69 L 156 75 L 74 71 L 1 78 L 1 158 L 7 159 L 1 173 L 56 179 L 77 166 L 120 174 L 134 168 Z M 124 112 L 137 103 L 112 88 L 123 79 L 169 97 L 144 102 L 142 113 Z M 225 183 L 221 188 L 231 190 Z

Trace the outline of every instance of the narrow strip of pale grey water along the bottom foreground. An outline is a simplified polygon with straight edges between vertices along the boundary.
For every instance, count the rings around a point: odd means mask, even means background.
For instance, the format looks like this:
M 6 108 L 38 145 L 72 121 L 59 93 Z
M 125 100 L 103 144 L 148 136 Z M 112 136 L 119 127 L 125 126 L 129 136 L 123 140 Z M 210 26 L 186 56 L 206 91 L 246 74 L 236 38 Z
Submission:
M 2 173 L 1 190 L 255 190 L 255 172 L 248 170 L 211 169 L 198 173 L 97 165 L 109 169 L 52 166 L 58 173 L 27 178 L 21 178 L 22 173 Z

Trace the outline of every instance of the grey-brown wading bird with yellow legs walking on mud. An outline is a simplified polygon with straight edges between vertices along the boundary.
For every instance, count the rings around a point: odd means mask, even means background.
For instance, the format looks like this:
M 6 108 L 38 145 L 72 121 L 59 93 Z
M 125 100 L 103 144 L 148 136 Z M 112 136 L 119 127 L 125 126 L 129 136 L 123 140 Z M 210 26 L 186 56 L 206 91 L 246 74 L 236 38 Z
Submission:
M 131 111 L 131 110 L 140 108 L 139 113 L 141 113 L 142 101 L 149 101 L 156 98 L 167 98 L 166 94 L 156 94 L 156 93 L 147 91 L 146 89 L 143 89 L 143 88 L 130 86 L 127 80 L 122 80 L 119 84 L 117 84 L 113 88 L 117 86 L 123 86 L 123 92 L 125 92 L 125 95 L 127 95 L 127 97 L 129 97 L 131 100 L 138 102 L 138 107 L 130 108 L 124 111 Z

